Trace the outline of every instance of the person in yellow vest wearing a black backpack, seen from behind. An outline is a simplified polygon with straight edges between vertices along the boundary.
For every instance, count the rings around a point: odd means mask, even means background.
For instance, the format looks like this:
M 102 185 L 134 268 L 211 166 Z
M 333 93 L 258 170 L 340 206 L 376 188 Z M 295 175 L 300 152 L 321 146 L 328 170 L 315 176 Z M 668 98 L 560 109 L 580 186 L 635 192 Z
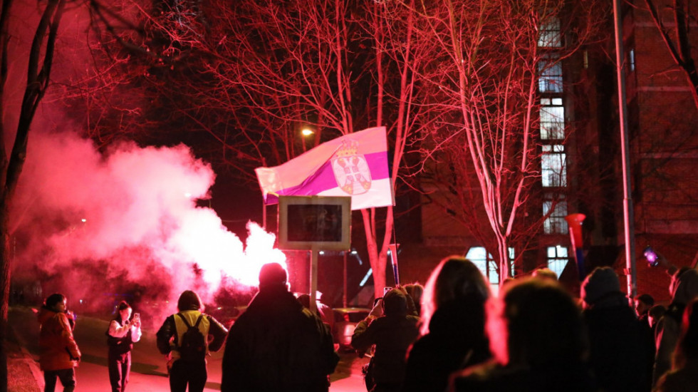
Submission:
M 167 356 L 170 391 L 202 392 L 206 385 L 206 356 L 223 346 L 228 330 L 208 314 L 199 295 L 182 292 L 177 313 L 165 319 L 157 331 L 157 349 Z M 210 338 L 209 338 L 210 336 Z

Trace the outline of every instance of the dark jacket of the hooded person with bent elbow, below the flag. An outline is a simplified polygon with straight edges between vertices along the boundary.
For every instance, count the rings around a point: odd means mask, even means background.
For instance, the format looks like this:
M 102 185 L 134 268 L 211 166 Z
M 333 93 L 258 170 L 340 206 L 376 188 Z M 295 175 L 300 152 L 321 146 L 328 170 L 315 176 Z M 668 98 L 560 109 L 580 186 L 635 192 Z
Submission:
M 420 318 L 407 314 L 388 314 L 359 322 L 351 336 L 351 346 L 365 351 L 375 344 L 373 378 L 376 384 L 402 384 L 405 380 L 407 348 L 419 336 Z

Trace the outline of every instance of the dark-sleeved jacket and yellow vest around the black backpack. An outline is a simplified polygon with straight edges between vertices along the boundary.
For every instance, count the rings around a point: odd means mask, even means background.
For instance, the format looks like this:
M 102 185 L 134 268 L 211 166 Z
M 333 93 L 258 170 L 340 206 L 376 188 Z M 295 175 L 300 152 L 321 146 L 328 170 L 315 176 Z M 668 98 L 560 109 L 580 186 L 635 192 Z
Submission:
M 178 314 L 184 316 L 187 319 L 189 325 L 194 326 L 197 323 L 197 319 L 202 315 L 202 312 L 198 310 L 186 310 L 180 311 Z M 155 334 L 157 338 L 157 349 L 161 354 L 172 353 L 172 359 L 179 359 L 179 342 L 182 341 L 182 335 L 187 332 L 188 327 L 184 325 L 182 319 L 177 316 L 177 314 L 172 314 L 165 322 L 162 323 L 160 329 L 157 330 Z M 207 354 L 209 351 L 218 351 L 221 349 L 225 342 L 225 338 L 228 334 L 228 330 L 219 323 L 216 319 L 208 314 L 203 314 L 201 322 L 199 323 L 199 331 L 204 336 L 207 347 Z M 209 336 L 212 339 L 209 339 Z

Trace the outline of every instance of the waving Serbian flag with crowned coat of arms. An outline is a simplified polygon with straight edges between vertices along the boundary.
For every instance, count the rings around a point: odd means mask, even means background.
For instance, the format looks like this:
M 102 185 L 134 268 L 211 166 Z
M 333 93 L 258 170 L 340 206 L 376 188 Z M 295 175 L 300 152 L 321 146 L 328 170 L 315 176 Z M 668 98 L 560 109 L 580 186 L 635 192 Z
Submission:
M 278 196 L 350 196 L 351 209 L 394 205 L 385 127 L 318 145 L 275 167 L 257 167 L 265 204 Z

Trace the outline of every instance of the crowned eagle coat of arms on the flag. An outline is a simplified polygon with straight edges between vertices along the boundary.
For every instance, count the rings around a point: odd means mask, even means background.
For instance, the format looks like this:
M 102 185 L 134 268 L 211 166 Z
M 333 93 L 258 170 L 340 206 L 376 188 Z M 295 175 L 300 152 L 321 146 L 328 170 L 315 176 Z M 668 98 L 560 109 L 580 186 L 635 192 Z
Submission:
M 332 170 L 341 190 L 348 195 L 361 195 L 371 187 L 371 171 L 359 143 L 346 140 L 332 158 Z

